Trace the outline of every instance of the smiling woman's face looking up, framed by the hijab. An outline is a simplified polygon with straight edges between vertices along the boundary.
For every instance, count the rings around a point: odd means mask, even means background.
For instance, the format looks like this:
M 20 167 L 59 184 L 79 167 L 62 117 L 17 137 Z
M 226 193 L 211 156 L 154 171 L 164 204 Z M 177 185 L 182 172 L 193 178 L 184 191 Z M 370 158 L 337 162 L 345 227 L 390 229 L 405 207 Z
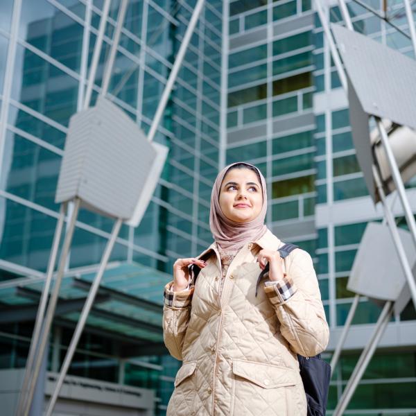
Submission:
M 220 207 L 236 223 L 257 218 L 263 207 L 263 191 L 256 173 L 245 168 L 228 171 L 221 184 Z

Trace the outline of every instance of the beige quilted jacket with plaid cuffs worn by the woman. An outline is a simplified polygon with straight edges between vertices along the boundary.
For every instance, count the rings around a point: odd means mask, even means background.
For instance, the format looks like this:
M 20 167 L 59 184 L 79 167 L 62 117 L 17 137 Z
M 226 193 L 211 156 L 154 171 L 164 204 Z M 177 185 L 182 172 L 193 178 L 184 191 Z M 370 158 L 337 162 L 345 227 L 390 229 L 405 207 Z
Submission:
M 282 245 L 270 231 L 244 245 L 229 265 L 221 295 L 215 244 L 200 255 L 207 266 L 195 286 L 173 292 L 172 282 L 166 285 L 164 342 L 183 361 L 168 416 L 306 415 L 296 353 L 322 352 L 329 330 L 304 250 L 286 257 L 285 284 L 261 282 L 255 296 L 259 250 Z

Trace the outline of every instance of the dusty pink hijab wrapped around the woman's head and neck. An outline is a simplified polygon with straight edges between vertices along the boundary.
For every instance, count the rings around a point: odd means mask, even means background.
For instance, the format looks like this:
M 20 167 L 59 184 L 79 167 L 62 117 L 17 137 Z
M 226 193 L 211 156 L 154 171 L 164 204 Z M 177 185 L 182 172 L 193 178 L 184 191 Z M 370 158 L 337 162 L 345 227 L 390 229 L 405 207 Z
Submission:
M 263 207 L 259 216 L 248 223 L 236 223 L 229 220 L 220 207 L 220 189 L 221 184 L 227 172 L 236 164 L 245 164 L 248 167 L 255 168 L 261 180 L 263 190 Z M 213 234 L 214 240 L 221 251 L 236 252 L 248 241 L 256 241 L 266 233 L 267 227 L 264 224 L 267 211 L 267 190 L 266 180 L 256 166 L 245 162 L 237 162 L 223 168 L 214 182 L 211 193 L 211 211 L 209 213 L 209 227 Z

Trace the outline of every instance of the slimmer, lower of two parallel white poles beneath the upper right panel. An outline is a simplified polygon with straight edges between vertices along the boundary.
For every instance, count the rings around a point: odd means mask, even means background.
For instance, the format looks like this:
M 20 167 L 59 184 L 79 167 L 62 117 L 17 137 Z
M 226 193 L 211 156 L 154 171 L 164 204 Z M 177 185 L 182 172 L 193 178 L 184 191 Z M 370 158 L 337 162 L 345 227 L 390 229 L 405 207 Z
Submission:
M 383 203 L 384 208 L 384 215 L 387 219 L 388 226 L 390 228 L 390 233 L 392 234 L 392 239 L 395 242 L 395 248 L 397 250 L 397 254 L 399 255 L 401 267 L 403 268 L 404 274 L 406 275 L 406 279 L 408 281 L 408 285 L 410 288 L 410 294 L 412 295 L 413 304 L 416 308 L 416 284 L 415 278 L 413 277 L 412 268 L 409 264 L 408 258 L 406 257 L 406 252 L 404 251 L 403 243 L 401 242 L 399 232 L 397 231 L 397 225 L 395 221 L 395 217 L 390 210 L 390 207 L 387 204 L 385 199 L 385 193 L 383 189 L 383 185 L 381 183 L 381 177 L 379 175 L 379 171 L 377 170 L 376 166 L 373 164 L 372 166 L 374 181 L 376 182 L 377 191 L 379 191 L 379 196 L 381 202 Z

